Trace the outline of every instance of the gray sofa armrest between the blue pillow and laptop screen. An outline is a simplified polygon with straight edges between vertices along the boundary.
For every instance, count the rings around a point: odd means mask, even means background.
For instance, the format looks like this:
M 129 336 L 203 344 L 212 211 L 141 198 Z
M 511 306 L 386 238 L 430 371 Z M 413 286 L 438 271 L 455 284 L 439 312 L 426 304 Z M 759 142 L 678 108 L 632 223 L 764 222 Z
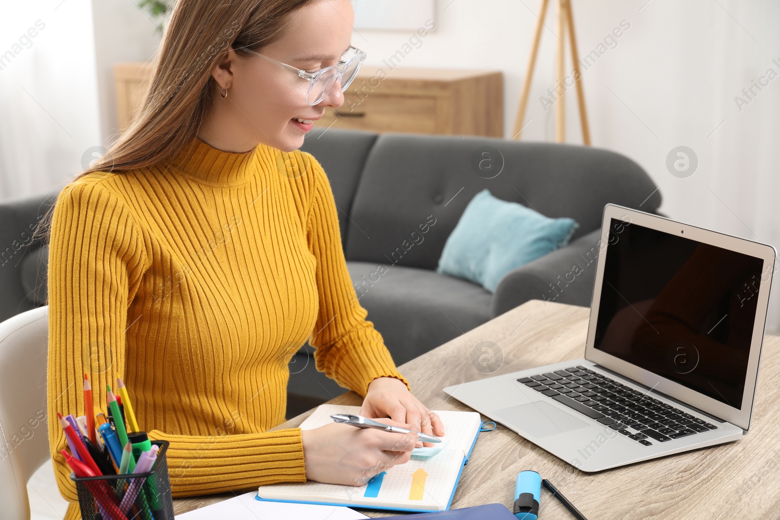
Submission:
M 600 239 L 601 229 L 597 229 L 509 271 L 493 294 L 491 317 L 500 316 L 530 299 L 590 306 L 596 260 L 601 253 Z

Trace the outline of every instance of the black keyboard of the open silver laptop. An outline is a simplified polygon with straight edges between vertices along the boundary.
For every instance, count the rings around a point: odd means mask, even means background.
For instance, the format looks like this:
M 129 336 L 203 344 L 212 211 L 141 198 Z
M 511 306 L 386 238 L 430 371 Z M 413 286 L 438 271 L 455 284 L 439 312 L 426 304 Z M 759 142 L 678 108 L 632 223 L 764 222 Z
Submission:
M 718 428 L 584 366 L 518 381 L 644 446 Z

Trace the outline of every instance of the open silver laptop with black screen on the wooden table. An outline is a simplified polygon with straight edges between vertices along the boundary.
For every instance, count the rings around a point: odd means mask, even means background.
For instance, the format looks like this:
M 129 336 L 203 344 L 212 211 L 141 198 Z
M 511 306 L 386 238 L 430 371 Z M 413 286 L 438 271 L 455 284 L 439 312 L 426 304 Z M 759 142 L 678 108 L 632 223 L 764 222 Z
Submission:
M 775 254 L 608 204 L 580 256 L 596 270 L 584 358 L 444 391 L 584 472 L 739 440 Z

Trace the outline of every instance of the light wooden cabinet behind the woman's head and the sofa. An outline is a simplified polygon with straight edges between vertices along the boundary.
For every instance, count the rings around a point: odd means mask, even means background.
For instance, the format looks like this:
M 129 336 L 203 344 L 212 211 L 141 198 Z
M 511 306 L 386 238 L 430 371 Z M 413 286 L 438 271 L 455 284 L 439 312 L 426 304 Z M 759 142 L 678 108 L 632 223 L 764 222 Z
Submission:
M 146 63 L 115 65 L 119 131 L 140 104 Z M 372 132 L 504 135 L 501 72 L 363 65 L 344 93 L 344 104 L 328 108 L 315 126 Z

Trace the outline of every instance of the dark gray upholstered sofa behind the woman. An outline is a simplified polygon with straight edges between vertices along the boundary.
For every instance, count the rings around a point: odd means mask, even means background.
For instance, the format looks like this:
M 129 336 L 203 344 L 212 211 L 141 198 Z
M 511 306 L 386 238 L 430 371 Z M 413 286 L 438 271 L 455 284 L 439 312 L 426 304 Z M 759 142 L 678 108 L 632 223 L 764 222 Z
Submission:
M 589 306 L 605 204 L 650 213 L 661 205 L 657 186 L 639 165 L 592 147 L 315 129 L 301 150 L 328 174 L 360 305 L 398 364 L 529 299 Z M 434 272 L 466 204 L 484 188 L 580 225 L 569 246 L 510 272 L 494 294 Z M 0 205 L 0 221 L 10 223 L 0 228 L 0 288 L 7 295 L 0 320 L 43 302 L 46 250 L 32 244 L 14 251 L 12 243 L 51 196 Z M 567 276 L 574 264 L 583 272 Z M 307 344 L 293 356 L 288 416 L 342 393 L 317 373 L 312 352 Z

